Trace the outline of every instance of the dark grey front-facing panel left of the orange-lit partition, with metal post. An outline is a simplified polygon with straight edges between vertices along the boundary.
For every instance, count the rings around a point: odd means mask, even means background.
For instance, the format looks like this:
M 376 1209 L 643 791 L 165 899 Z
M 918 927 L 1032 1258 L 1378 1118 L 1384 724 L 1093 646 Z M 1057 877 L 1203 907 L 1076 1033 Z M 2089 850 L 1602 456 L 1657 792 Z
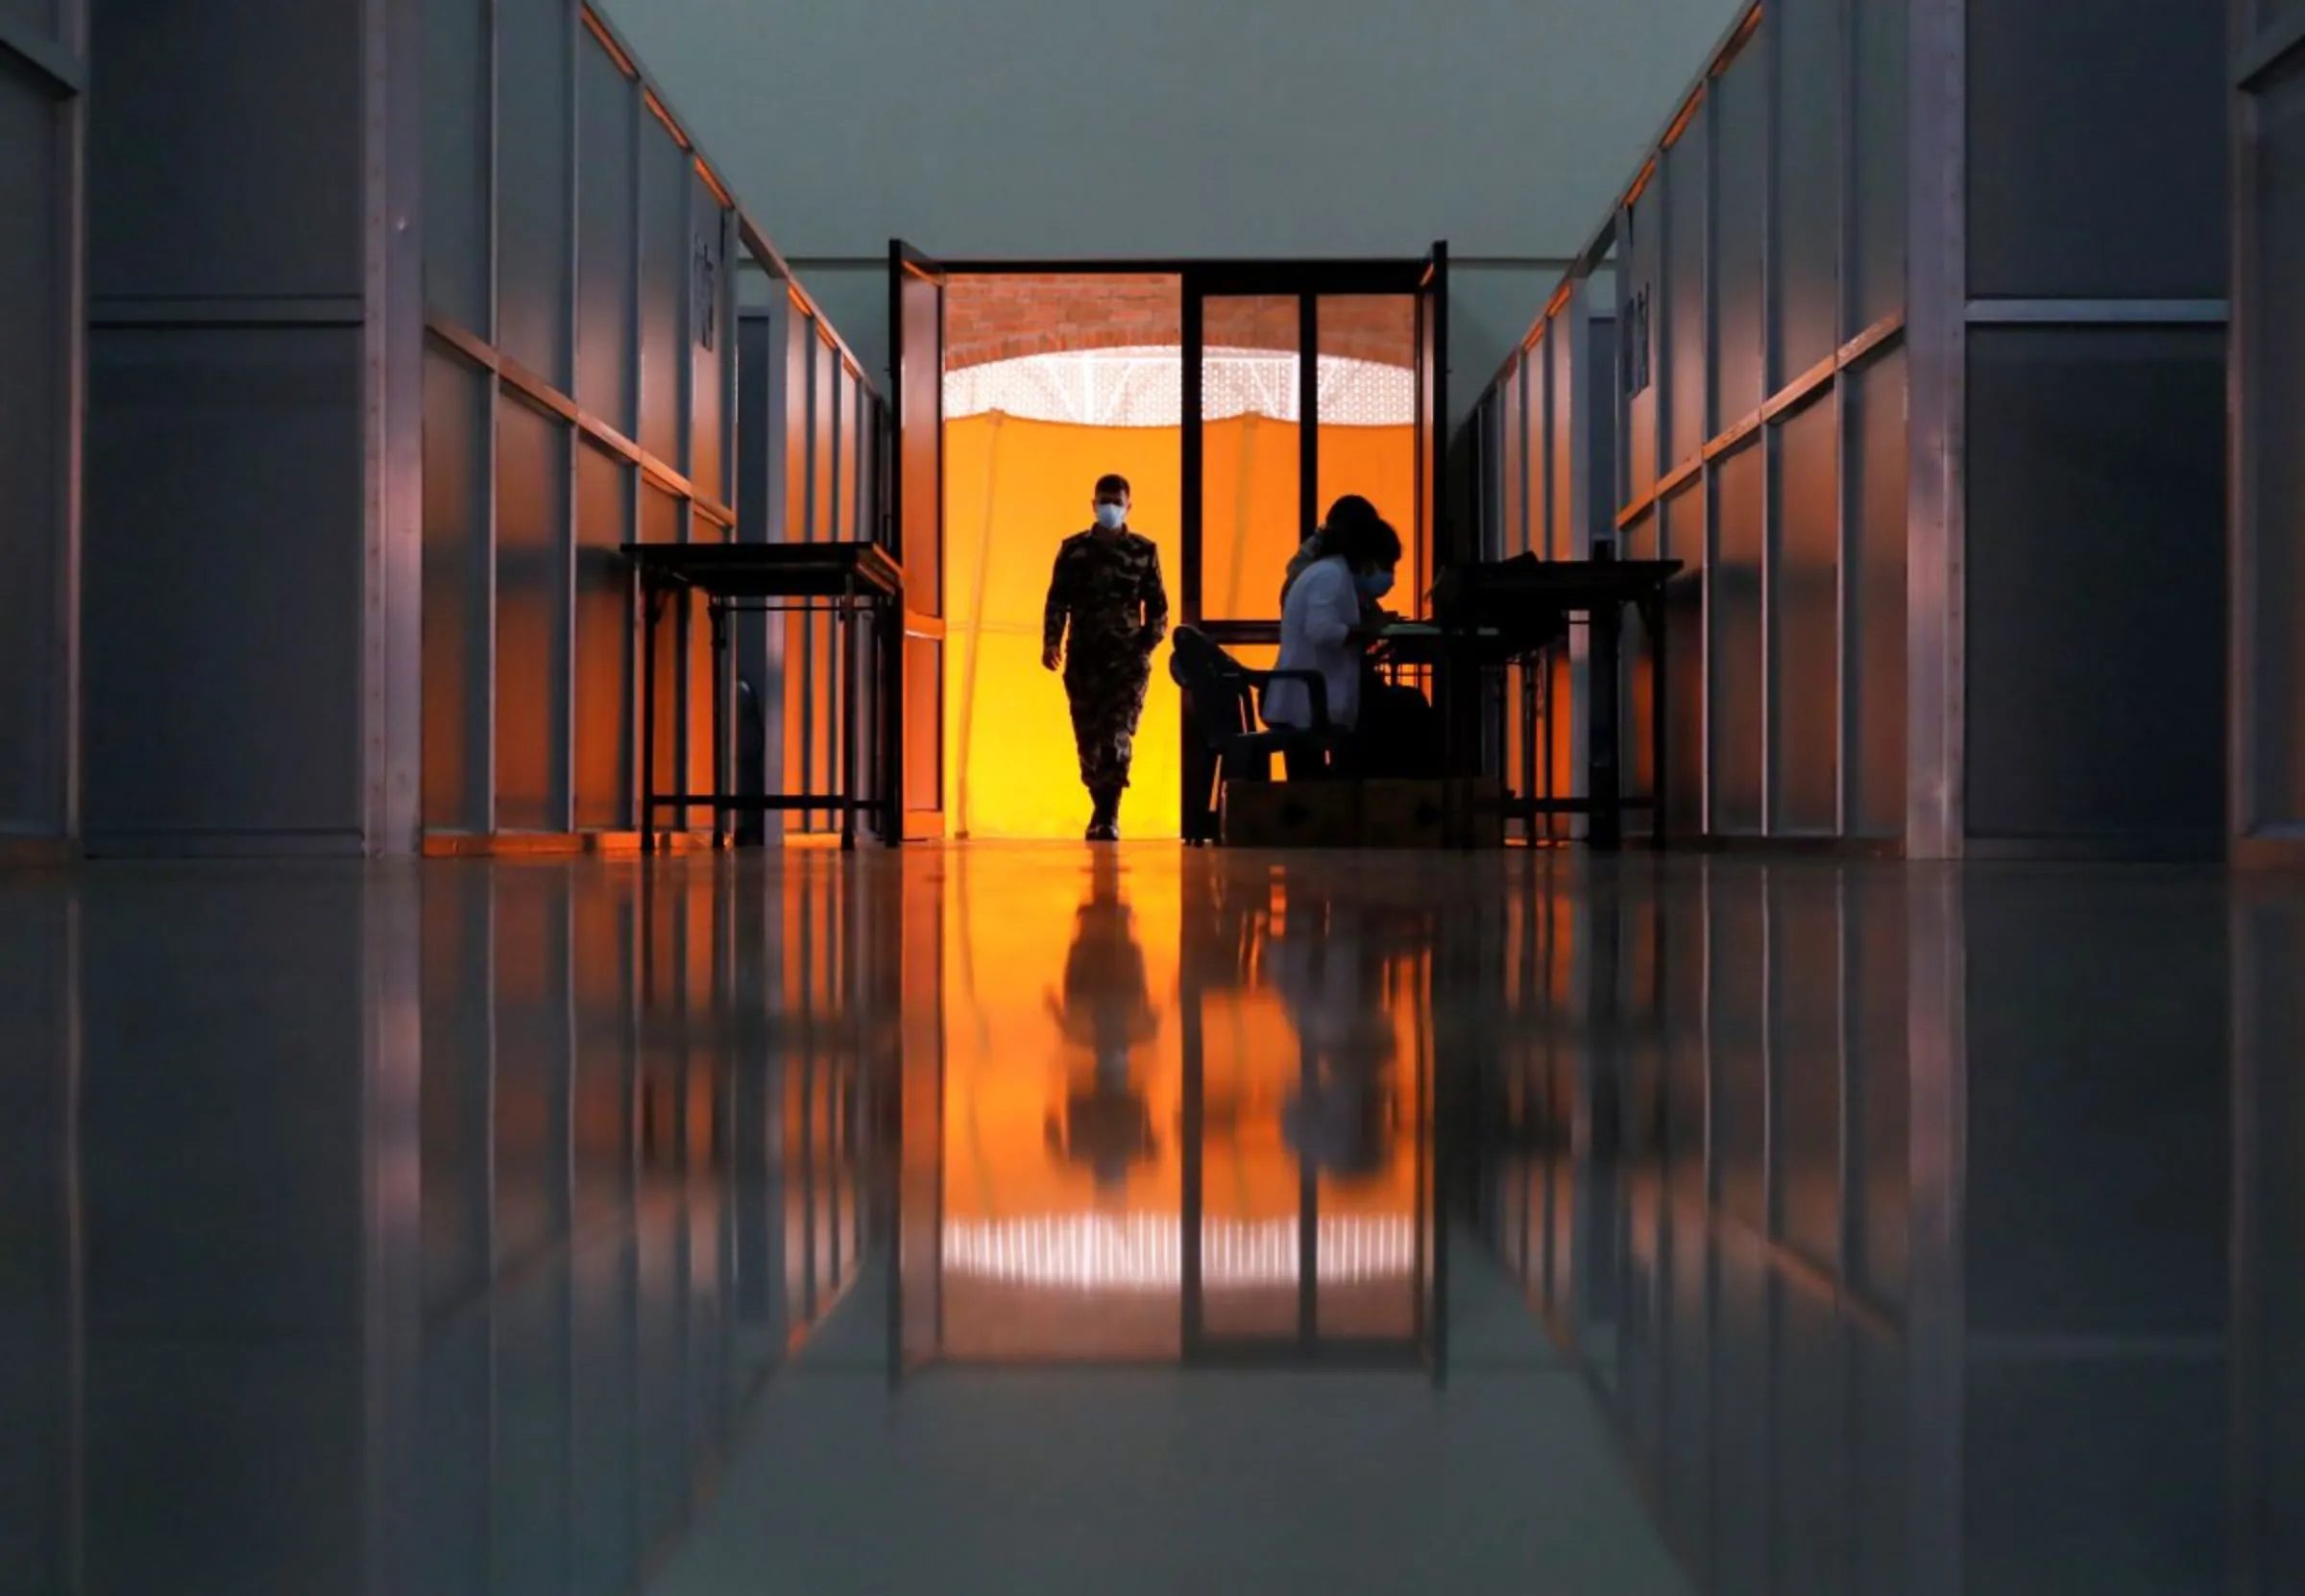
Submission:
M 85 846 L 408 846 L 422 16 L 88 18 Z

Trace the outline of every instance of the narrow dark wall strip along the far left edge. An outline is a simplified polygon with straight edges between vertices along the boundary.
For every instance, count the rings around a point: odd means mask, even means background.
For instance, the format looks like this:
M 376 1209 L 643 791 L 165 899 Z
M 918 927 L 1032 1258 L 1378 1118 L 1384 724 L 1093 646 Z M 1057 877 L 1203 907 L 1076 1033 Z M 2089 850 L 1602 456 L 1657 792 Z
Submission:
M 85 14 L 0 9 L 0 851 L 78 826 Z

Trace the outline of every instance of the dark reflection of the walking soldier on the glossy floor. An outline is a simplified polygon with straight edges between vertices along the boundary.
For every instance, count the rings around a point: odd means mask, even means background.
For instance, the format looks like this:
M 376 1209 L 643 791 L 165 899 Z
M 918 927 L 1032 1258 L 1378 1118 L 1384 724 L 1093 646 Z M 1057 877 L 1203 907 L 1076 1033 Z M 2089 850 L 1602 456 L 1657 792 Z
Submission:
M 1152 985 L 1136 927 L 1120 895 L 1120 860 L 1099 853 L 1088 902 L 1065 955 L 1065 994 L 1049 994 L 1058 1033 L 1093 1061 L 1088 1079 L 1067 1082 L 1063 1116 L 1051 1114 L 1049 1146 L 1088 1165 L 1111 1188 L 1152 1158 L 1152 1107 L 1132 1079 L 1129 1054 L 1159 1036 Z

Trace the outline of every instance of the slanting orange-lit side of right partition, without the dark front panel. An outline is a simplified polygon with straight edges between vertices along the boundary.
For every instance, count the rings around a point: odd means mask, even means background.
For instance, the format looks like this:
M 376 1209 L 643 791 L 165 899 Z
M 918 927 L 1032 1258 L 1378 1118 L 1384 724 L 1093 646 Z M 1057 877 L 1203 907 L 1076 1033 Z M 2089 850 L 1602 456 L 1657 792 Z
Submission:
M 1505 551 L 1579 558 L 1590 537 L 1685 563 L 1671 609 L 1701 646 L 1618 708 L 1637 727 L 1676 706 L 1650 759 L 1678 837 L 1879 846 L 1934 791 L 1904 750 L 1892 498 L 1906 48 L 1902 5 L 1749 7 L 1482 401 L 1507 454 L 1480 484 Z M 1584 348 L 1602 304 L 1614 357 Z M 1595 706 L 1577 699 L 1581 740 Z

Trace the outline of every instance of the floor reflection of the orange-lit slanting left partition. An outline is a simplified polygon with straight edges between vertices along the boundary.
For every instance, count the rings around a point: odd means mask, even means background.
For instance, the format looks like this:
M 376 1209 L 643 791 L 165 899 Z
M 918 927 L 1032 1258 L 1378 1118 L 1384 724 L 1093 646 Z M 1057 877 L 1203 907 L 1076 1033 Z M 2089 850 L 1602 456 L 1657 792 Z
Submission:
M 855 897 L 811 876 L 738 899 L 710 872 L 426 881 L 424 1589 L 496 1589 L 507 1548 L 641 1582 L 855 1278 Z M 763 1008 L 818 1031 L 772 1042 Z

